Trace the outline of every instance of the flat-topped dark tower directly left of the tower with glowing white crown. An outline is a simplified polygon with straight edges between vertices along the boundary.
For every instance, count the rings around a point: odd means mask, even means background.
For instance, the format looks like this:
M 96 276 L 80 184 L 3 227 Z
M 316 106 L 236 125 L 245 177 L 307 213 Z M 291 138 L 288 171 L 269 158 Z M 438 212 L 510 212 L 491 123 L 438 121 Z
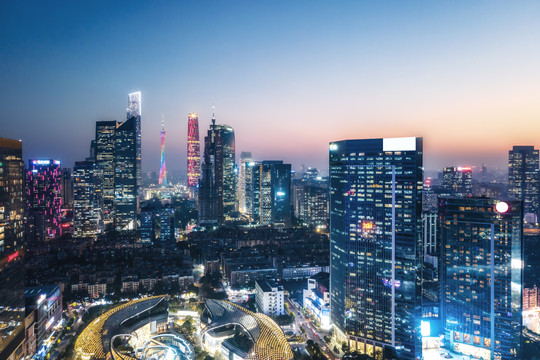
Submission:
M 103 171 L 103 216 L 105 224 L 114 222 L 114 148 L 118 121 L 96 122 L 96 164 Z

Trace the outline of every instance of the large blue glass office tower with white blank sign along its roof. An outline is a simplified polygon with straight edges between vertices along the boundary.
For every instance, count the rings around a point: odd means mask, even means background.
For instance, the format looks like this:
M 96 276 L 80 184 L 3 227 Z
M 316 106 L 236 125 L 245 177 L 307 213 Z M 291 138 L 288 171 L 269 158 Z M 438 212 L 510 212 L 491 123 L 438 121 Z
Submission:
M 422 138 L 330 143 L 336 336 L 376 358 L 422 356 Z

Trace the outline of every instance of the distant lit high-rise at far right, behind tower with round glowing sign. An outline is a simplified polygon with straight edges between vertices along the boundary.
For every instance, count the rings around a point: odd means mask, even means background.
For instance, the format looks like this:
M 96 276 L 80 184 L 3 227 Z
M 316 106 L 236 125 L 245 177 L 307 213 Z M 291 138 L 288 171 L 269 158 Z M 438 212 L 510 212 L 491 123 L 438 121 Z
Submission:
M 524 214 L 538 216 L 539 156 L 534 146 L 514 146 L 508 152 L 508 193 L 523 201 Z M 534 219 L 536 220 L 536 219 Z

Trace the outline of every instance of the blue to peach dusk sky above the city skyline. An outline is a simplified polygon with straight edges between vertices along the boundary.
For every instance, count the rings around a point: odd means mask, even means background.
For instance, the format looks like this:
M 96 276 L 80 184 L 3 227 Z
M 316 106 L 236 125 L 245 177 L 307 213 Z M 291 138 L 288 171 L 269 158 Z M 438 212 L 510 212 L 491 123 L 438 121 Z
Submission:
M 237 154 L 328 167 L 328 142 L 424 137 L 426 169 L 540 146 L 538 1 L 0 2 L 0 136 L 72 167 L 142 91 L 143 168 L 185 172 L 212 104 Z

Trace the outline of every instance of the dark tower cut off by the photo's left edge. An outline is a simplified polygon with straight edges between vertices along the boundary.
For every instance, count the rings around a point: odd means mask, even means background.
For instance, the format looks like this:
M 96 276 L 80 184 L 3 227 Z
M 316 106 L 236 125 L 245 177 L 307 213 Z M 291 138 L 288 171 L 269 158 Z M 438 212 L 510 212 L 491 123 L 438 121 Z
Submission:
M 24 355 L 24 164 L 19 140 L 0 138 L 0 359 Z

